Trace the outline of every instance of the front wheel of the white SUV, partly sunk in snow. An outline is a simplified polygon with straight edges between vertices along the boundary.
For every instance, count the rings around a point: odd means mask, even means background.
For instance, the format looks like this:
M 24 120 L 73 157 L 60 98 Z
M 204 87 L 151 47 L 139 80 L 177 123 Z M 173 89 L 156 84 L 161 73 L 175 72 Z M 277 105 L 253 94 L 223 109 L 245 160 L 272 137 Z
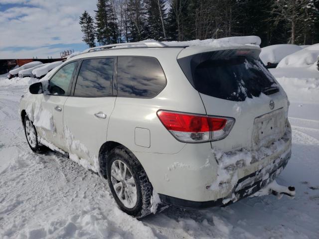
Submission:
M 38 134 L 33 125 L 33 122 L 28 118 L 28 116 L 24 117 L 23 126 L 24 126 L 25 138 L 31 150 L 36 153 L 44 152 L 46 148 L 45 146 L 39 144 L 37 139 Z

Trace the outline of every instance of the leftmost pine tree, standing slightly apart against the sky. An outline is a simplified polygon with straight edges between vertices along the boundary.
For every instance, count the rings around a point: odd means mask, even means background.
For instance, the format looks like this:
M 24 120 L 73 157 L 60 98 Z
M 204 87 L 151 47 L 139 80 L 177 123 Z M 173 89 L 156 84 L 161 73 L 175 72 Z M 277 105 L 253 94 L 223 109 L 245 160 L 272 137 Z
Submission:
M 88 44 L 89 47 L 95 47 L 95 36 L 94 36 L 94 24 L 93 18 L 85 10 L 80 16 L 81 31 L 83 32 L 83 41 Z

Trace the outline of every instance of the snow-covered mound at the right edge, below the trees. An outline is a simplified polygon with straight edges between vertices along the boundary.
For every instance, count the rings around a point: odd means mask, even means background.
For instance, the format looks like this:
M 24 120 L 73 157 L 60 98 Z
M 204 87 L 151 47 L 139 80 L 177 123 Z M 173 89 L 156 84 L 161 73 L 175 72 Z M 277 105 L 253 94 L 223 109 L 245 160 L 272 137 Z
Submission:
M 311 66 L 318 61 L 319 43 L 284 57 L 277 68 Z

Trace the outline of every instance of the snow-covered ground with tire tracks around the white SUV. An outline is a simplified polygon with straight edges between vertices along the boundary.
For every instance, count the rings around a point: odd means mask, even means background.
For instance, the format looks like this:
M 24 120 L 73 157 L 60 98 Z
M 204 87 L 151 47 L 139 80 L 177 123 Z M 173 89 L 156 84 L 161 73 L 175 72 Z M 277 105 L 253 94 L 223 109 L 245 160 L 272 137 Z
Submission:
M 36 79 L 0 78 L 0 238 L 318 239 L 319 75 L 278 80 L 291 101 L 293 152 L 277 182 L 295 186 L 296 198 L 170 207 L 138 221 L 117 208 L 106 180 L 58 153 L 29 149 L 18 104 Z

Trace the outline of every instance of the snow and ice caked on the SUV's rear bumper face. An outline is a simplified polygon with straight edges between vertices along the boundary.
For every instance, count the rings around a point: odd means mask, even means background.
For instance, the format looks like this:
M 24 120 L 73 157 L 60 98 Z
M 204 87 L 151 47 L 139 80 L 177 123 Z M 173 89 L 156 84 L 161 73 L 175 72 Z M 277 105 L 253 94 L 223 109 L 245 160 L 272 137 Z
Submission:
M 291 155 L 291 128 L 283 137 L 258 150 L 245 149 L 222 152 L 214 148 L 217 179 L 208 190 L 223 198 L 222 203 L 236 202 L 250 196 L 271 183 L 284 169 Z

